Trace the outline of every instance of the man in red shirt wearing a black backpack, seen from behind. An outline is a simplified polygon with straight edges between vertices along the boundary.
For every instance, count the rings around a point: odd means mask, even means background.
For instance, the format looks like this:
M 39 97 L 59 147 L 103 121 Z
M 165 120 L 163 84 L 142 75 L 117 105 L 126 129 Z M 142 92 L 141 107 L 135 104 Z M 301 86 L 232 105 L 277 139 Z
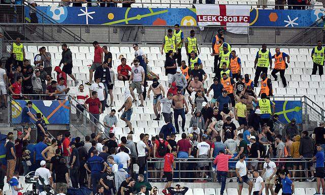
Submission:
M 165 145 L 165 146 L 164 146 Z M 167 154 L 167 148 L 169 150 L 172 149 L 172 147 L 169 145 L 169 143 L 164 140 L 164 134 L 160 133 L 159 134 L 159 139 L 155 140 L 154 144 L 153 144 L 153 156 L 155 156 L 156 158 L 164 158 L 164 156 Z M 154 164 L 155 170 L 161 170 L 160 171 L 160 179 L 163 178 L 164 175 L 164 160 L 163 159 L 159 159 L 158 163 Z

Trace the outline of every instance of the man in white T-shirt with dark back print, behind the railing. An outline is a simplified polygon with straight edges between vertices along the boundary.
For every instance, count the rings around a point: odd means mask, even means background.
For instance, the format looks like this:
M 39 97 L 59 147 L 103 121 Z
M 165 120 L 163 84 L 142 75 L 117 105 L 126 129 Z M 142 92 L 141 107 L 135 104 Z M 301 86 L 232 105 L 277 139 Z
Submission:
M 210 145 L 205 142 L 207 140 L 207 135 L 202 135 L 202 142 L 200 142 L 198 144 L 198 151 L 197 151 L 197 157 L 198 158 L 209 158 L 209 151 L 210 151 Z M 202 161 L 202 163 L 198 163 L 198 168 L 201 171 L 205 171 L 208 167 L 209 167 L 209 162 L 206 160 L 199 160 Z M 202 174 L 202 176 L 200 176 L 200 178 L 208 178 L 208 175 L 206 175 L 205 172 L 201 172 L 200 175 Z

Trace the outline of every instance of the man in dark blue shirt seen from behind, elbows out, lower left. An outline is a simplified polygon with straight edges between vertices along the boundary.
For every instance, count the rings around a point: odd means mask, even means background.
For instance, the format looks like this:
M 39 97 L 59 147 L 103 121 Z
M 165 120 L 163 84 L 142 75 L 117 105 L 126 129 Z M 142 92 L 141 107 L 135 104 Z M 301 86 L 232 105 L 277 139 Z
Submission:
M 88 158 L 84 167 L 91 174 L 92 191 L 95 194 L 97 184 L 101 179 L 101 173 L 105 172 L 106 167 L 108 165 L 102 157 L 98 156 L 97 150 L 93 150 L 92 153 L 93 156 Z M 104 165 L 104 169 L 103 169 L 103 165 Z M 90 167 L 90 169 L 88 168 L 88 166 Z

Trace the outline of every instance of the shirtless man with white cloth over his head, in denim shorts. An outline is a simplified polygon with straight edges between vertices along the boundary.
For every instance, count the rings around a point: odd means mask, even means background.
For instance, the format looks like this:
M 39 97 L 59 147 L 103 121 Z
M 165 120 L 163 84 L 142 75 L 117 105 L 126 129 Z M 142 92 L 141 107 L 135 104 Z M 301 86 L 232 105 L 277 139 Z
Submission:
M 131 115 L 133 113 L 132 110 L 132 95 L 129 89 L 125 89 L 124 92 L 124 104 L 123 106 L 118 109 L 118 112 L 121 112 L 121 110 L 124 108 L 124 112 L 121 115 L 121 119 L 125 121 L 126 125 L 130 128 L 130 133 L 133 134 L 133 128 L 132 124 L 130 122 L 131 120 Z

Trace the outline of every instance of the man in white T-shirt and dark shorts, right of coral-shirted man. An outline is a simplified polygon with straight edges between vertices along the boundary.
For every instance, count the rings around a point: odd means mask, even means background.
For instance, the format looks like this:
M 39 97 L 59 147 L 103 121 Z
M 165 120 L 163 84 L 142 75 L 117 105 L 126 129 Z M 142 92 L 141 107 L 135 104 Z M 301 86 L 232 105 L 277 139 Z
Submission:
M 238 195 L 242 195 L 242 189 L 244 182 L 249 185 L 248 187 L 248 194 L 251 194 L 253 183 L 250 181 L 248 176 L 250 172 L 247 170 L 246 161 L 245 161 L 245 154 L 239 155 L 239 160 L 236 163 L 236 175 L 237 175 L 237 182 L 238 182 Z M 248 176 L 247 176 L 248 175 Z

